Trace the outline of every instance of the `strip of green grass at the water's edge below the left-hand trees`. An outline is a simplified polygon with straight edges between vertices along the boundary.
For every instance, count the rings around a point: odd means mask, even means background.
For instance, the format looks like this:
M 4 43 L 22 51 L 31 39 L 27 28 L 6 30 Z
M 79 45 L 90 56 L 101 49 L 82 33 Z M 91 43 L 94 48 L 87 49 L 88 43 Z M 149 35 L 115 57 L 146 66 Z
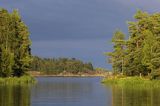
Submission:
M 0 78 L 0 85 L 33 84 L 36 80 L 31 76 Z

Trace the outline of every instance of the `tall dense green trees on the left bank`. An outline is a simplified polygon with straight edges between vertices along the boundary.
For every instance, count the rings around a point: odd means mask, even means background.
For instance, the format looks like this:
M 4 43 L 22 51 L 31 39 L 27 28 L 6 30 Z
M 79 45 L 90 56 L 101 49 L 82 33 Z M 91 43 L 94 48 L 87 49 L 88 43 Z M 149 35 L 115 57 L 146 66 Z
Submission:
M 0 77 L 22 76 L 30 69 L 31 40 L 17 10 L 0 9 Z

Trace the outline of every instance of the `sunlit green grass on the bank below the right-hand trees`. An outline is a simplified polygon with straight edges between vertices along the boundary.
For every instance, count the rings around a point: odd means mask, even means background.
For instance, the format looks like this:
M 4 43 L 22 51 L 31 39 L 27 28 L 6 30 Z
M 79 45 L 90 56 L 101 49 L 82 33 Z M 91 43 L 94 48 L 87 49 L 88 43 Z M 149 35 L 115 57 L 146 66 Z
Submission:
M 142 77 L 104 78 L 102 83 L 120 87 L 160 88 L 160 80 L 150 80 Z

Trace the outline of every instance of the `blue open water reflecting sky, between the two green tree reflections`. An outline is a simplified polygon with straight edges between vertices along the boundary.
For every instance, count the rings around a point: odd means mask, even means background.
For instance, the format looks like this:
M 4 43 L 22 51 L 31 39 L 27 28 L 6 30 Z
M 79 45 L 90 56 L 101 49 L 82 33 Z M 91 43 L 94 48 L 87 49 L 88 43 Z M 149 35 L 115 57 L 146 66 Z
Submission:
M 32 106 L 111 106 L 111 91 L 101 79 L 40 77 L 32 87 Z

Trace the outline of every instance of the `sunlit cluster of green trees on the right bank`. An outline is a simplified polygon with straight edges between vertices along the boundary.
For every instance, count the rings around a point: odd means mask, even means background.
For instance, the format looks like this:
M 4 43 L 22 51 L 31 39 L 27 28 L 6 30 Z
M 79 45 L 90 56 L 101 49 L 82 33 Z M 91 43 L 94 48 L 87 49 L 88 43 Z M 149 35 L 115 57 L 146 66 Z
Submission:
M 114 73 L 127 76 L 160 76 L 160 13 L 137 11 L 134 21 L 128 22 L 129 38 L 117 30 L 108 52 Z

